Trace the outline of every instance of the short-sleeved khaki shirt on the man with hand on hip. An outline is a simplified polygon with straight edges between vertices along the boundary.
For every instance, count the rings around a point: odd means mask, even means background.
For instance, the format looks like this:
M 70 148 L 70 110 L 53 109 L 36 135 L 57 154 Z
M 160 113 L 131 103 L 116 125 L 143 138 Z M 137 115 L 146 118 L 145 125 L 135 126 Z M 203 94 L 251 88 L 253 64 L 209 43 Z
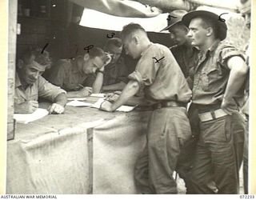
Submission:
M 226 42 L 214 42 L 206 54 L 198 55 L 198 65 L 194 68 L 192 102 L 201 105 L 221 104 L 230 76 L 227 60 L 233 56 L 244 59 L 242 52 Z M 234 97 L 232 106 L 242 106 L 244 87 Z M 231 105 L 230 105 L 231 106 Z

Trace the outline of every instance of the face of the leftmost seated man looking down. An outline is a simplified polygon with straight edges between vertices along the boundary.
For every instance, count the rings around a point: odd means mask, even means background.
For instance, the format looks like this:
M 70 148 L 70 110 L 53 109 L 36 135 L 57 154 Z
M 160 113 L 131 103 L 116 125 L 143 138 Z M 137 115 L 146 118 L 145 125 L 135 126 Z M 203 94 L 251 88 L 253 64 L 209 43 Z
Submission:
M 28 85 L 34 84 L 38 80 L 38 77 L 45 71 L 45 67 L 38 64 L 38 62 L 32 61 L 30 64 L 24 63 L 22 66 L 21 74 L 22 79 Z

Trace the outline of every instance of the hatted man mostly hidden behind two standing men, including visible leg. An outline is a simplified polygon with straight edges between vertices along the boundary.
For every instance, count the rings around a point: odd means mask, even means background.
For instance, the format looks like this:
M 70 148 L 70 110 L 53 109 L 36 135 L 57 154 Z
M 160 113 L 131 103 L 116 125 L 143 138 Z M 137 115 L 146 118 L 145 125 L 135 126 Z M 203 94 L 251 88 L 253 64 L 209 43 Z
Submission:
M 163 30 L 169 30 L 170 38 L 175 44 L 175 46 L 170 47 L 170 50 L 181 67 L 187 82 L 192 87 L 193 82 L 189 74 L 193 71 L 193 67 L 196 66 L 199 50 L 191 45 L 191 39 L 187 36 L 189 29 L 182 23 L 182 17 L 185 14 L 187 14 L 186 10 L 174 10 L 170 12 L 169 18 L 167 18 L 168 26 Z M 192 129 L 192 134 L 194 132 Z M 194 156 L 195 142 L 196 137 L 193 137 L 186 143 L 186 148 L 182 150 L 182 154 L 180 154 L 178 160 L 176 171 L 179 177 L 183 179 L 186 178 L 186 173 L 190 170 L 191 158 Z

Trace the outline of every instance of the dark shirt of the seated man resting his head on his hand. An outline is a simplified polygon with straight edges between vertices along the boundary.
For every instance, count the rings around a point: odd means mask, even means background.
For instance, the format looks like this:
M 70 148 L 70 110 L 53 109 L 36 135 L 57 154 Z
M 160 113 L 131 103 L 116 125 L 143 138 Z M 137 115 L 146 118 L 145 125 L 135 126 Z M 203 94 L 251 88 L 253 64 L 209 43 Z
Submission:
M 55 86 L 60 86 L 66 91 L 74 91 L 82 89 L 82 86 L 92 86 L 93 81 L 89 81 L 90 75 L 79 72 L 76 60 L 62 59 L 54 63 L 53 70 L 48 78 L 49 82 Z M 88 79 L 87 79 L 88 78 Z M 88 83 L 88 82 L 90 83 Z

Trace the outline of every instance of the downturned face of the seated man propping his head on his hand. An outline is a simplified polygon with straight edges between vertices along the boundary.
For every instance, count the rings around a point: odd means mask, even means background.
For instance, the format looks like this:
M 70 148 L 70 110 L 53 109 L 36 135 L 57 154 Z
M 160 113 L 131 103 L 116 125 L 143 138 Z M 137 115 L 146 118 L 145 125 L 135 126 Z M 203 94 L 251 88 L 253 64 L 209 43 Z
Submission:
M 99 70 L 104 65 L 102 58 L 94 57 L 89 58 L 88 60 L 83 62 L 82 71 L 85 74 L 94 74 L 96 70 Z

